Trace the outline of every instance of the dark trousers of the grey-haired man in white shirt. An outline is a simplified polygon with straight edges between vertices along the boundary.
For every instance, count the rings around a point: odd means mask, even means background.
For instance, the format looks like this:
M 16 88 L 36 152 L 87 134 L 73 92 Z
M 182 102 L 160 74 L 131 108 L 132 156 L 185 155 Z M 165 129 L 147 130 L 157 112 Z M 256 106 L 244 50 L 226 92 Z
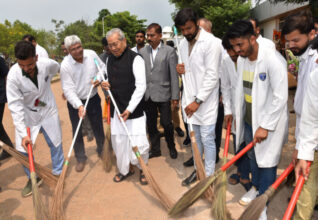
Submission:
M 82 100 L 83 105 L 86 100 Z M 104 128 L 103 128 L 103 119 L 102 119 L 102 108 L 100 104 L 101 100 L 98 94 L 90 98 L 87 108 L 86 108 L 86 116 L 88 117 L 93 133 L 95 136 L 96 144 L 97 144 L 97 153 L 101 155 L 103 151 L 103 145 L 105 140 Z M 78 109 L 74 109 L 70 103 L 67 102 L 67 108 L 70 115 L 73 137 L 75 135 L 75 131 L 79 122 L 78 117 Z M 81 130 L 80 130 L 81 131 Z M 87 156 L 85 154 L 84 141 L 82 132 L 78 132 L 77 138 L 74 145 L 75 158 L 78 162 L 85 162 L 87 160 Z

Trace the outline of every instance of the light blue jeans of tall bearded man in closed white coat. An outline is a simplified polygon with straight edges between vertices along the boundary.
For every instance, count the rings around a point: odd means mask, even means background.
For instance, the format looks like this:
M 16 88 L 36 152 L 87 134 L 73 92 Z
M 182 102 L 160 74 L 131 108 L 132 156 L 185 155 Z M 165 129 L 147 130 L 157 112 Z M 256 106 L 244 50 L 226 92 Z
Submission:
M 193 131 L 195 133 L 195 138 L 201 157 L 203 155 L 204 149 L 205 173 L 207 176 L 211 176 L 215 170 L 216 159 L 215 124 L 193 125 Z

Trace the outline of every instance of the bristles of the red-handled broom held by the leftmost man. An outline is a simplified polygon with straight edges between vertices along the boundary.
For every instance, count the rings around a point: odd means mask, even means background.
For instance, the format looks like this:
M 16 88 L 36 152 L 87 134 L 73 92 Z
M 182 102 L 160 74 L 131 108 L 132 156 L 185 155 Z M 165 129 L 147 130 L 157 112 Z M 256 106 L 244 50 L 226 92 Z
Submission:
M 46 207 L 44 206 L 41 199 L 41 195 L 40 195 L 37 181 L 36 181 L 36 173 L 31 172 L 30 177 L 32 182 L 32 199 L 33 199 L 33 207 L 35 212 L 35 219 L 47 220 L 49 219 L 48 211 L 46 210 Z

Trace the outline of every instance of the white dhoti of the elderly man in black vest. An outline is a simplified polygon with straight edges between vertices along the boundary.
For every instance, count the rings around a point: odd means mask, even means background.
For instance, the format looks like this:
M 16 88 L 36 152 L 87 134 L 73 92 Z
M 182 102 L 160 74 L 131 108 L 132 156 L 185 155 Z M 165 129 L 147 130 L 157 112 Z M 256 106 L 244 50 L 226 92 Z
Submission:
M 130 163 L 137 165 L 139 169 L 138 159 L 132 150 L 133 146 L 137 146 L 141 157 L 148 163 L 149 142 L 146 133 L 146 116 L 126 121 L 129 134 L 132 139 L 130 143 L 128 135 L 117 116 L 111 119 L 111 141 L 117 158 L 117 167 L 122 175 L 129 172 Z

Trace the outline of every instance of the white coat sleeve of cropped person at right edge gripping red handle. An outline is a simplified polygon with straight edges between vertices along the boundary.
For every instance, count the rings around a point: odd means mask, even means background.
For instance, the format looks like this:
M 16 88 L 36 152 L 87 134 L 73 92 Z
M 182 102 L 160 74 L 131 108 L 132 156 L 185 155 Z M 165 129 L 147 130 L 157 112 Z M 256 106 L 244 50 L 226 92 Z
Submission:
M 297 144 L 298 159 L 313 161 L 318 150 L 318 68 L 308 75 Z

